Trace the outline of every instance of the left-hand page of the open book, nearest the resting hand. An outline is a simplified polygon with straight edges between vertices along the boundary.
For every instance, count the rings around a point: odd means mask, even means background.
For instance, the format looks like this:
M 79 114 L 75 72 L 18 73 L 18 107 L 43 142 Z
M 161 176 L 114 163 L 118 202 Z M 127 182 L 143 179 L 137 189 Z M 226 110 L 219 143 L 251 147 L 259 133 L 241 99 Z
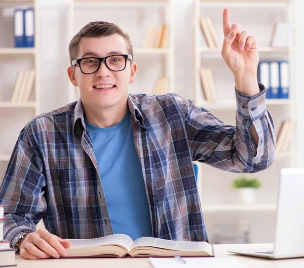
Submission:
M 130 250 L 133 244 L 131 237 L 123 234 L 109 235 L 93 239 L 66 239 L 72 243 L 70 248 L 84 248 L 102 245 L 122 245 Z

